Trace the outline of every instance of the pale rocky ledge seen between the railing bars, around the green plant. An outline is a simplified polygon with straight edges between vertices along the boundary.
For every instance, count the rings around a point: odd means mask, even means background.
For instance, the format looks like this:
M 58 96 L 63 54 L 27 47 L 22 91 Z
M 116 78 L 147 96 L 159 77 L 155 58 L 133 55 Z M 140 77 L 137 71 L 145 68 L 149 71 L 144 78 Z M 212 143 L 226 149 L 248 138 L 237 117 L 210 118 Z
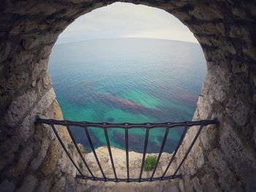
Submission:
M 99 147 L 95 150 L 97 156 L 99 158 L 99 162 L 102 166 L 103 172 L 105 173 L 106 177 L 114 178 L 113 168 L 110 161 L 110 156 L 108 153 L 108 147 Z M 118 149 L 116 147 L 111 147 L 111 152 L 113 155 L 113 161 L 116 168 L 116 174 L 118 178 L 127 178 L 127 160 L 126 160 L 126 152 L 125 150 Z M 91 168 L 91 171 L 94 173 L 96 177 L 102 177 L 102 174 L 99 170 L 99 166 L 97 165 L 97 161 L 94 158 L 94 154 L 91 153 L 83 153 L 87 164 Z M 151 156 L 158 156 L 158 153 L 147 153 Z M 159 164 L 157 166 L 157 170 L 154 174 L 154 177 L 161 177 L 162 174 L 165 172 L 167 168 L 167 164 L 170 162 L 170 158 L 172 154 L 169 153 L 162 153 Z M 138 178 L 140 175 L 140 168 L 142 163 L 143 154 L 142 153 L 135 153 L 129 152 L 129 176 L 130 178 Z M 90 175 L 88 170 L 82 164 L 83 161 L 78 160 L 78 164 L 80 167 L 83 167 L 83 172 L 86 175 Z M 173 162 L 176 164 L 176 162 Z M 173 165 L 174 165 L 173 164 Z M 173 170 L 173 166 L 170 167 L 167 171 L 167 175 L 173 174 L 175 170 Z M 151 177 L 152 171 L 144 171 L 142 177 Z

